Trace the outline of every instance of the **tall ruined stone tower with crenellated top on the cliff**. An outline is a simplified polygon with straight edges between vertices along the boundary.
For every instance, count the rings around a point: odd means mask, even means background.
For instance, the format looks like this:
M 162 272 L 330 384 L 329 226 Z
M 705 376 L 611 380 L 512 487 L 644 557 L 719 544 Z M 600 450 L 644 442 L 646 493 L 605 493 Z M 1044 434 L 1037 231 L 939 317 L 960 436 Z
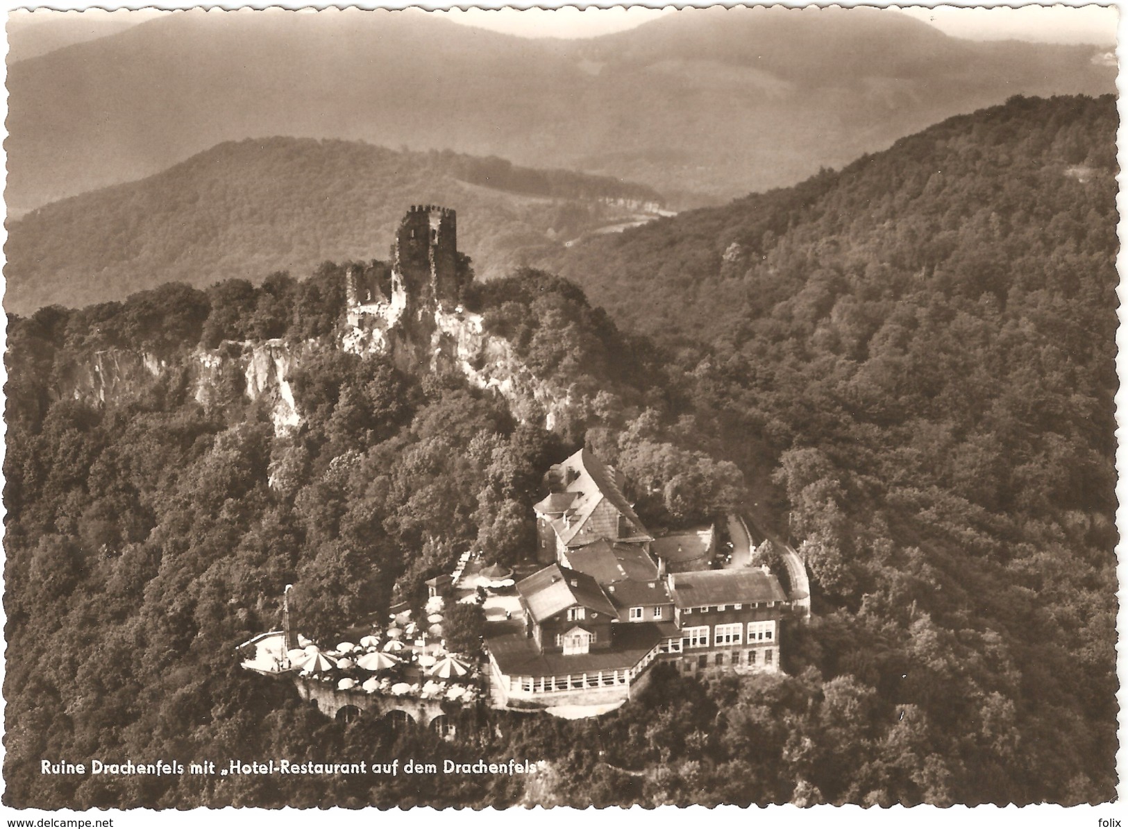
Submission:
M 399 223 L 393 267 L 404 290 L 417 302 L 450 309 L 458 305 L 462 274 L 458 268 L 455 211 L 414 205 Z

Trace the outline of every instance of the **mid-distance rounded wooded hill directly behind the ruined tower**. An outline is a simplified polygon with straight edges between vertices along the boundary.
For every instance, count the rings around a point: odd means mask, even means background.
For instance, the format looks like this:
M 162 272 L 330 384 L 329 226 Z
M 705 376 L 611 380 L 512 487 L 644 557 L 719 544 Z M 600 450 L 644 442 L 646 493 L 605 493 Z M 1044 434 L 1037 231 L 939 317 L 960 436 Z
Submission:
M 459 212 L 459 245 L 488 263 L 479 273 L 488 277 L 656 208 L 661 196 L 629 182 L 453 152 L 312 139 L 224 143 L 10 222 L 5 307 L 77 307 L 169 281 L 204 288 L 382 256 L 404 205 L 418 203 Z

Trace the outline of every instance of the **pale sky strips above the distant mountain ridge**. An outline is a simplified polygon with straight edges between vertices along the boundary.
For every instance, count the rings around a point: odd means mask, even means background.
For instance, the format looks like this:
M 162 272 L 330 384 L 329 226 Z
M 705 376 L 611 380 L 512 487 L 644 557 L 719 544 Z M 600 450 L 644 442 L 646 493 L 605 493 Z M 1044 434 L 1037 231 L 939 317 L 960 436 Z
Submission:
M 5 8 L 11 9 L 16 6 L 10 0 L 0 0 Z M 652 0 L 656 5 L 659 0 Z M 702 2 L 702 0 L 698 0 Z M 90 6 L 90 2 L 77 0 L 63 0 L 53 2 L 58 8 L 82 8 Z M 102 2 L 105 7 L 121 6 L 124 3 Z M 168 8 L 191 7 L 195 3 L 186 0 L 173 0 L 173 2 L 161 3 Z M 233 2 L 231 6 L 238 6 Z M 280 3 L 280 5 L 285 5 Z M 301 5 L 301 3 L 296 3 Z M 411 6 L 408 0 L 391 0 L 379 3 L 387 8 L 403 8 Z M 431 8 L 451 6 L 452 2 L 432 2 Z M 500 3 L 481 2 L 479 6 Z M 543 2 L 541 5 L 550 5 Z M 702 5 L 708 5 L 702 2 Z M 800 5 L 800 3 L 795 3 Z M 45 17 L 45 9 L 38 10 L 34 15 L 25 15 L 19 11 L 12 16 L 12 23 L 17 26 L 20 23 L 41 20 Z M 968 37 L 972 39 L 999 39 L 1016 38 L 1036 42 L 1050 43 L 1100 43 L 1112 45 L 1116 43 L 1117 33 L 1117 8 L 1101 6 L 1022 6 L 1013 9 L 994 6 L 992 8 L 971 7 L 959 8 L 955 6 L 938 6 L 935 8 L 909 7 L 904 9 L 906 14 L 913 15 L 917 19 L 929 23 L 941 30 L 957 37 Z M 92 14 L 91 14 L 92 12 Z M 47 11 L 50 15 L 51 12 Z M 91 19 L 105 11 L 91 9 Z M 138 20 L 148 17 L 153 12 L 139 14 Z M 156 12 L 159 14 L 159 12 Z M 444 17 L 456 23 L 469 26 L 479 26 L 497 32 L 521 35 L 525 37 L 594 37 L 610 32 L 620 32 L 640 24 L 653 20 L 667 14 L 673 14 L 672 8 L 647 8 L 644 6 L 633 6 L 631 8 L 578 9 L 572 6 L 556 9 L 488 9 L 474 8 L 466 11 L 451 9 L 441 11 Z M 23 19 L 20 19 L 23 18 Z

